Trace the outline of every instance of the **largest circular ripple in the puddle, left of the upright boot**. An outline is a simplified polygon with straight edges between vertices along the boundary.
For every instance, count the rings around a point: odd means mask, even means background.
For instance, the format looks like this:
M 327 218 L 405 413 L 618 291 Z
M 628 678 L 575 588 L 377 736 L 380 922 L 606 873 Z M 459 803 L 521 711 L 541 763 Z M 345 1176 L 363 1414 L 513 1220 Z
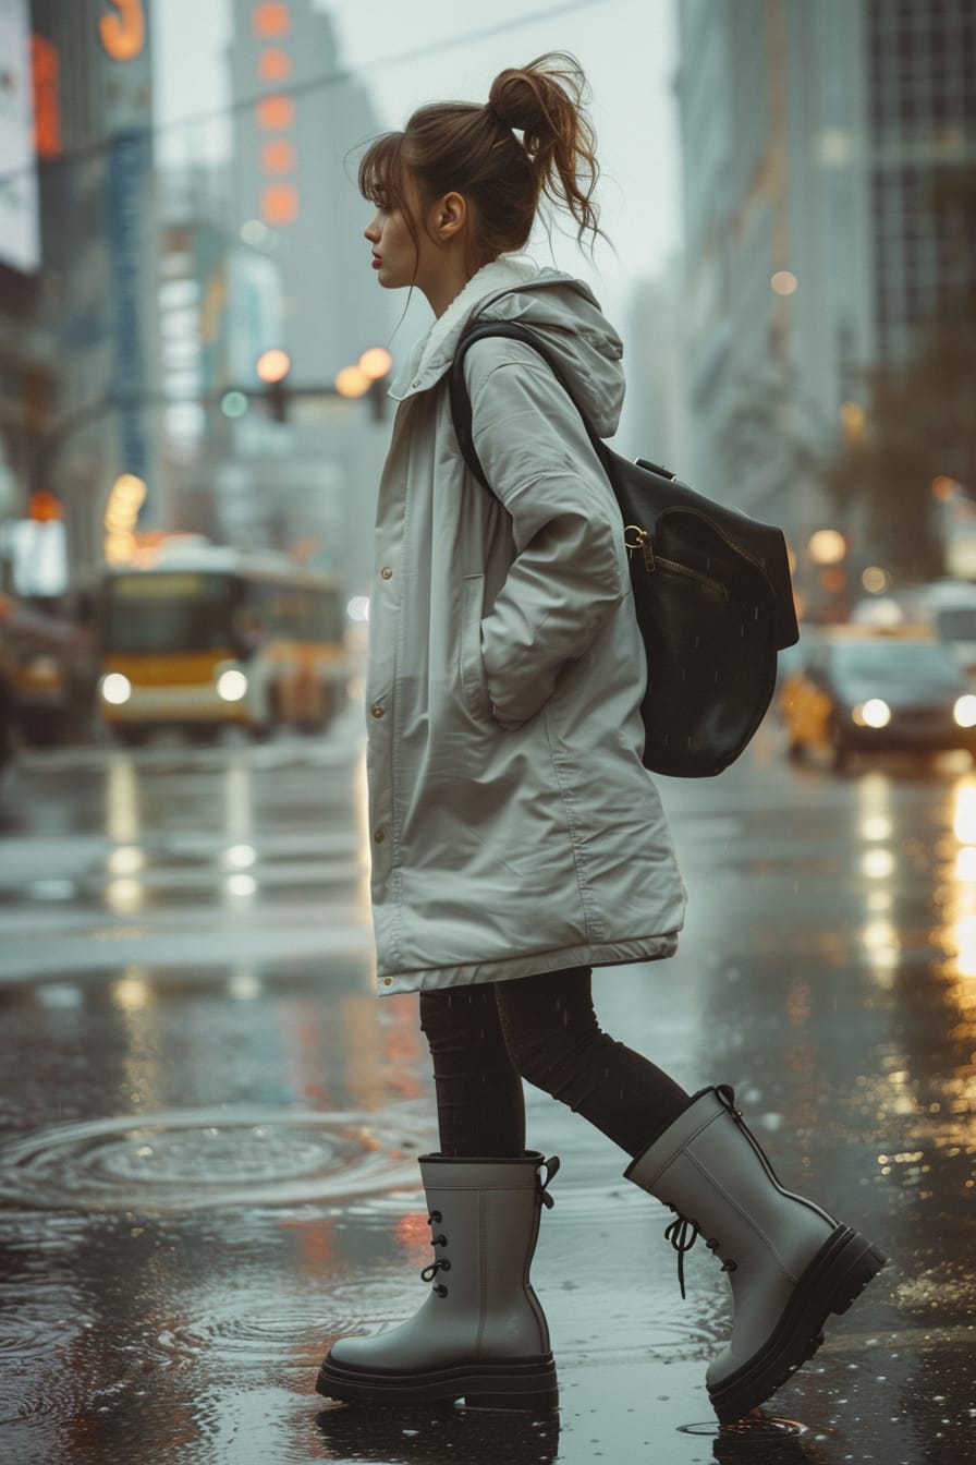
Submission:
M 0 1147 L 0 1175 L 7 1203 L 148 1214 L 328 1203 L 417 1184 L 416 1160 L 361 1118 L 266 1109 L 57 1125 Z

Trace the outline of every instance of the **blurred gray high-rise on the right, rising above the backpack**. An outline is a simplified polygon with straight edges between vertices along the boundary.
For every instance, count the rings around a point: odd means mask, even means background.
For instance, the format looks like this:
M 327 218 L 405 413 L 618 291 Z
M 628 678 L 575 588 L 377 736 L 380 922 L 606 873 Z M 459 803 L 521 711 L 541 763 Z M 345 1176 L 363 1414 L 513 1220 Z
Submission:
M 676 21 L 689 472 L 802 549 L 830 523 L 825 456 L 871 432 L 868 375 L 909 362 L 951 283 L 932 199 L 975 161 L 976 6 L 680 0 Z M 856 494 L 841 527 L 856 542 Z

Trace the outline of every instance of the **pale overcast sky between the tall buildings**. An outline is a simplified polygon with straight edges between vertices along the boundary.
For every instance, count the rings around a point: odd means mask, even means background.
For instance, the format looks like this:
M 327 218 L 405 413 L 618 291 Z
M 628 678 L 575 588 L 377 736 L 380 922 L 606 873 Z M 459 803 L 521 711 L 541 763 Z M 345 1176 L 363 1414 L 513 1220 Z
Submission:
M 617 258 L 598 246 L 594 268 L 558 237 L 555 259 L 590 280 L 622 325 L 634 280 L 658 274 L 680 242 L 673 0 L 540 3 L 531 18 L 524 0 L 493 0 L 490 7 L 484 0 L 318 0 L 318 9 L 332 15 L 341 62 L 369 86 L 380 127 L 402 126 L 426 101 L 484 101 L 499 70 L 541 51 L 579 59 L 593 88 L 603 226 Z M 231 0 L 155 0 L 152 10 L 159 120 L 224 104 Z M 167 127 L 162 157 L 186 157 L 187 136 L 187 129 Z M 192 138 L 198 157 L 225 145 L 225 130 L 214 126 L 195 127 Z M 550 262 L 544 252 L 536 255 Z

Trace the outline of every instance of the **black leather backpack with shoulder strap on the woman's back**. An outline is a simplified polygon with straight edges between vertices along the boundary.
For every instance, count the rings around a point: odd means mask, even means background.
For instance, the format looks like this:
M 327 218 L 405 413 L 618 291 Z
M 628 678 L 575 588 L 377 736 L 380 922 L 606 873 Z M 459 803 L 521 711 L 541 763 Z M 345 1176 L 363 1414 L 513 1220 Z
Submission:
M 777 652 L 799 640 L 783 532 L 704 498 L 658 463 L 613 453 L 534 331 L 476 319 L 458 341 L 448 382 L 461 453 L 489 492 L 464 381 L 465 352 L 487 335 L 538 352 L 579 412 L 620 505 L 647 652 L 644 766 L 676 778 L 720 774 L 762 721 Z

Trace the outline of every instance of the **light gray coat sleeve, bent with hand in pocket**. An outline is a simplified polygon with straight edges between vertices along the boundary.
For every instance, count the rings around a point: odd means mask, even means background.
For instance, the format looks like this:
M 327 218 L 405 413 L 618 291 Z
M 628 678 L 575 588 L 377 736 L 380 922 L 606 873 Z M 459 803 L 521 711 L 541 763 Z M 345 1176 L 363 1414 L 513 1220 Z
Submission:
M 531 347 L 505 349 L 468 381 L 474 447 L 512 519 L 515 558 L 481 621 L 481 661 L 492 711 L 515 728 L 585 655 L 628 585 L 619 510 L 579 413 Z

